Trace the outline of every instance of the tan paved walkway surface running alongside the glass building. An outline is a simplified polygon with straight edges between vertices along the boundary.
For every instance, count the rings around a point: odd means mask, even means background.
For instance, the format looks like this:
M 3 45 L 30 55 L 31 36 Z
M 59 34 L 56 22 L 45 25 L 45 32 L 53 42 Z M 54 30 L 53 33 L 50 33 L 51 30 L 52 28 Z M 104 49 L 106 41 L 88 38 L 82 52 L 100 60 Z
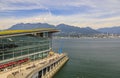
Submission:
M 26 78 L 32 71 L 44 67 L 46 64 L 64 56 L 64 54 L 55 53 L 44 59 L 29 62 L 24 65 L 16 66 L 12 69 L 0 72 L 0 78 Z

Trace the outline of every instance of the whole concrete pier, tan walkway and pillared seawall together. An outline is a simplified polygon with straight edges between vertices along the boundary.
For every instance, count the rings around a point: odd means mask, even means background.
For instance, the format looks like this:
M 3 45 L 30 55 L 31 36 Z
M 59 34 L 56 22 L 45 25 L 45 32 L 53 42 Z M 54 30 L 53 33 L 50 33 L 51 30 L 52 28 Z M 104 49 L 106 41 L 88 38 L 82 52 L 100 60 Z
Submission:
M 0 72 L 1 78 L 52 78 L 68 61 L 65 53 L 55 53 L 44 59 L 32 61 L 24 65 Z

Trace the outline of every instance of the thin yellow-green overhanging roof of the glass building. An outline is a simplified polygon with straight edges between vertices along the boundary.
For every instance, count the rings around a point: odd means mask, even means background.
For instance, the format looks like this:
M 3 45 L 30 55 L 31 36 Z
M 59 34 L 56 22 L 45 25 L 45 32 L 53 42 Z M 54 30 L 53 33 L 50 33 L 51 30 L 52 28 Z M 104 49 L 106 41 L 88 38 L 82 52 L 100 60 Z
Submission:
M 30 30 L 3 30 L 3 31 L 0 31 L 0 38 L 26 35 L 26 34 L 32 34 L 32 33 L 42 33 L 42 32 L 55 33 L 55 32 L 59 32 L 59 30 L 53 29 L 53 28 L 40 28 L 40 29 L 30 29 Z

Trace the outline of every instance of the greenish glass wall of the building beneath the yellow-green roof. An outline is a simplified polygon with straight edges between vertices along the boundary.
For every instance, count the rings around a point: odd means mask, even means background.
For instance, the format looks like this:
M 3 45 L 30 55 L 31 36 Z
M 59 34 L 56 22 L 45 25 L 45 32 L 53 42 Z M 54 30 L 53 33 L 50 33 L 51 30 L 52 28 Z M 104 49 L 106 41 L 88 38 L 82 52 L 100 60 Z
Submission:
M 48 55 L 51 39 L 48 33 L 0 38 L 0 61 L 29 58 L 36 60 Z

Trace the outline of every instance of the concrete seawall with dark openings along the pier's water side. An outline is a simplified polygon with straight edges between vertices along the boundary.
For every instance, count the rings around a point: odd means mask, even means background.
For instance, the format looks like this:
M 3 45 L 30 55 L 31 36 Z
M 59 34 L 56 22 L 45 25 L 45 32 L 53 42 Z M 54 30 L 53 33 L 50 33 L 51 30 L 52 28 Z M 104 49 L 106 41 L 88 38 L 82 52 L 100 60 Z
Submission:
M 50 63 L 44 65 L 42 68 L 37 68 L 30 72 L 26 78 L 52 78 L 57 71 L 68 61 L 66 54 L 54 59 Z

